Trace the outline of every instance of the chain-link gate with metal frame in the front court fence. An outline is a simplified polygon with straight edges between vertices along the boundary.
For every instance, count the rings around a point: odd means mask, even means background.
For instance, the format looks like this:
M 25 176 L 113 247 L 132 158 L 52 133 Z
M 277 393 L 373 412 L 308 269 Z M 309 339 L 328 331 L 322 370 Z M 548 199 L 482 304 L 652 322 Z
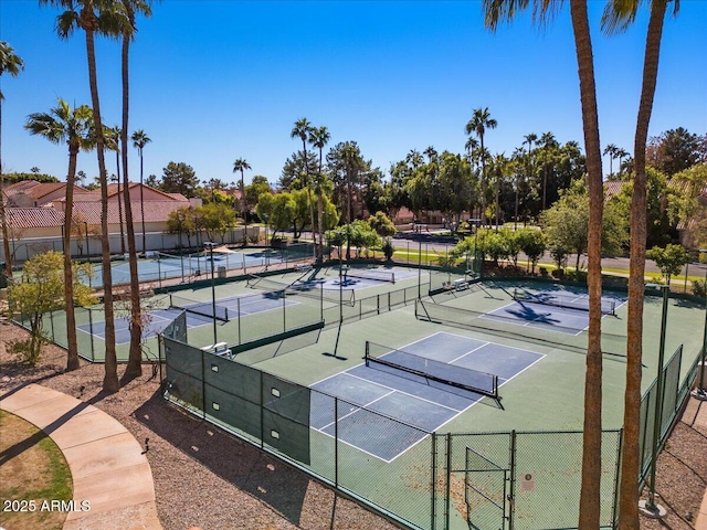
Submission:
M 466 447 L 464 501 L 469 530 L 504 530 L 509 469 Z

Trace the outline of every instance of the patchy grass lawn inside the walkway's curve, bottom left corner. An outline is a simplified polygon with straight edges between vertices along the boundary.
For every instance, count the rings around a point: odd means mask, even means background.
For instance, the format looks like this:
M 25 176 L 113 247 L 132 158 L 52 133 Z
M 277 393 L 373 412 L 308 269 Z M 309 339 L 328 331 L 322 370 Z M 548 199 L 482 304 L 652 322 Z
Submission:
M 52 511 L 43 502 L 73 497 L 64 455 L 52 438 L 14 414 L 0 411 L 0 526 L 12 530 L 61 529 L 66 511 Z

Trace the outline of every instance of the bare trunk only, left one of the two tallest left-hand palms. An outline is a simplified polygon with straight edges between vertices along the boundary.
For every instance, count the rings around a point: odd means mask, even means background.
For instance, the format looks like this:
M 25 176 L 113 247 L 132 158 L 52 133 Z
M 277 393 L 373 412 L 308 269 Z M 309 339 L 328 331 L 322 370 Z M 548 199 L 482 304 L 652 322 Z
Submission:
M 85 9 L 85 8 L 84 8 Z M 101 103 L 98 99 L 98 81 L 96 77 L 96 54 L 93 30 L 86 31 L 86 55 L 88 57 L 88 84 L 96 135 L 96 152 L 98 156 L 98 174 L 101 178 L 101 253 L 103 263 L 103 303 L 105 309 L 105 375 L 103 391 L 113 394 L 120 389 L 118 382 L 118 364 L 115 350 L 115 314 L 113 310 L 113 275 L 110 271 L 110 241 L 108 240 L 108 182 L 106 173 L 105 145 L 103 124 L 101 121 Z

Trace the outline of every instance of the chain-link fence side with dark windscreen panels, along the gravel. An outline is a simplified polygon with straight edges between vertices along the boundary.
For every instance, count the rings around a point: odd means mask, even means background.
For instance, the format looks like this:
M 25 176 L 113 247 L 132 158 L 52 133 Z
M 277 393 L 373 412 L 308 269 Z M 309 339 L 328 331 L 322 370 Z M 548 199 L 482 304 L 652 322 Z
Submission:
M 177 328 L 177 329 L 175 329 Z M 431 521 L 431 433 L 162 335 L 165 395 L 411 528 Z

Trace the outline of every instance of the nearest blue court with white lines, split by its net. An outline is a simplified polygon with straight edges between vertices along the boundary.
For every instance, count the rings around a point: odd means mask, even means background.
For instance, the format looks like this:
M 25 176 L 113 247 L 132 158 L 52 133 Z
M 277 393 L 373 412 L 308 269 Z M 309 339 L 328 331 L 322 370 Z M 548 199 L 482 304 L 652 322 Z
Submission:
M 383 353 L 381 358 L 394 358 L 401 350 L 435 364 L 453 367 L 450 368 L 453 371 L 468 369 L 495 374 L 499 386 L 544 357 L 528 350 L 439 332 L 398 351 Z M 312 427 L 329 436 L 336 431 L 339 441 L 384 462 L 393 460 L 423 439 L 423 431 L 437 431 L 484 398 L 478 392 L 376 362 L 359 364 L 310 388 L 318 391 L 312 393 Z M 334 398 L 340 400 L 336 418 L 331 406 Z M 391 422 L 371 412 L 400 421 L 395 424 L 399 432 L 391 433 Z

